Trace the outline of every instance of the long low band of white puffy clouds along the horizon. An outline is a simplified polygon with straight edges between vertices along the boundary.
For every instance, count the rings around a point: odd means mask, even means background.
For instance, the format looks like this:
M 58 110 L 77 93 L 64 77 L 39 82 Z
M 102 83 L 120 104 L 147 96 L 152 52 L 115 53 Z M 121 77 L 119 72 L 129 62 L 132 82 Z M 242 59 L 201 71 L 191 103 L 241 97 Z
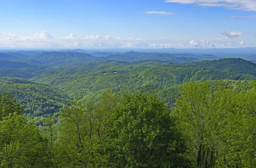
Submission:
M 45 34 L 44 34 L 45 35 Z M 234 35 L 233 35 L 234 36 Z M 51 37 L 51 36 L 50 36 Z M 53 36 L 52 36 L 53 37 Z M 47 40 L 45 40 L 45 39 Z M 249 46 L 253 46 L 248 43 Z M 42 36 L 26 37 L 0 32 L 0 48 L 229 48 L 243 46 L 244 42 L 230 39 L 209 40 L 168 40 L 168 39 L 133 39 L 116 38 L 108 35 L 106 38 L 86 36 L 79 38 L 75 34 L 67 37 L 49 38 Z

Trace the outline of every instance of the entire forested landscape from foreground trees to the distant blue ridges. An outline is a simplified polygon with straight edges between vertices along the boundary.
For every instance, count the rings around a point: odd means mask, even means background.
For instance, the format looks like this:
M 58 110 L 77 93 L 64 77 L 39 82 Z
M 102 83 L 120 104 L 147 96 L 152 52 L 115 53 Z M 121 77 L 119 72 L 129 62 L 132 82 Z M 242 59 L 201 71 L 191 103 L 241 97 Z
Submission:
M 244 59 L 5 51 L 0 92 L 3 168 L 256 167 L 256 64 Z

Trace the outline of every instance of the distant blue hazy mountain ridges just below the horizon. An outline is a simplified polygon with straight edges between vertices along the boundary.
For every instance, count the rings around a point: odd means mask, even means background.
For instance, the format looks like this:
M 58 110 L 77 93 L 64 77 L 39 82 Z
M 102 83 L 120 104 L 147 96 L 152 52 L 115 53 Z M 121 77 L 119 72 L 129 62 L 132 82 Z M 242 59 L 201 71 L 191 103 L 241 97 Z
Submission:
M 180 64 L 224 58 L 240 58 L 256 63 L 256 48 L 0 50 L 0 77 L 29 79 L 45 71 L 68 70 L 95 62 L 104 64 L 108 60 Z M 195 68 L 197 64 L 191 66 Z

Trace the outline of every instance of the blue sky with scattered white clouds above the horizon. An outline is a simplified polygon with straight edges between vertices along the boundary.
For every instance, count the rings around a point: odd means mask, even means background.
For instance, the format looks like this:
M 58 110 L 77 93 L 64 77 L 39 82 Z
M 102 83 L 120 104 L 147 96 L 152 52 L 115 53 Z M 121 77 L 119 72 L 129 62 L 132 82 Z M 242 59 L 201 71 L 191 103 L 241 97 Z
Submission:
M 256 0 L 5 0 L 0 48 L 256 47 Z

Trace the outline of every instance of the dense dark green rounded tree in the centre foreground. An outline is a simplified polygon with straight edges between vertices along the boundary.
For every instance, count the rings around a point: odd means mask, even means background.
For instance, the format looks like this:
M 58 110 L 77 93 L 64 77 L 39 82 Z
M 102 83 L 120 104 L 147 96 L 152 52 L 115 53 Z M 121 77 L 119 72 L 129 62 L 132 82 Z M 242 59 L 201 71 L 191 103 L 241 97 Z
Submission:
M 184 141 L 154 95 L 127 95 L 110 123 L 109 167 L 186 167 Z

